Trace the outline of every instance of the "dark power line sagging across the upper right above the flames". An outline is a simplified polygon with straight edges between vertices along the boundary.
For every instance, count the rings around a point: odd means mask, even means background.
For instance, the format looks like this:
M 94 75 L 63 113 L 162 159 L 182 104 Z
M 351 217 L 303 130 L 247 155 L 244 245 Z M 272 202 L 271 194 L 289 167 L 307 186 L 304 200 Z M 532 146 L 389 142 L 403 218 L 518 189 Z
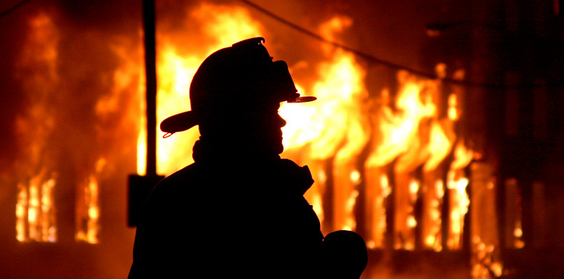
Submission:
M 393 68 L 395 70 L 406 70 L 409 73 L 412 73 L 414 75 L 419 75 L 421 77 L 427 77 L 429 79 L 438 79 L 439 77 L 433 73 L 428 73 L 426 71 L 423 70 L 417 70 L 414 68 L 410 68 L 407 66 L 403 66 L 400 65 L 398 63 L 393 63 L 391 61 L 387 61 L 384 59 L 379 59 L 375 56 L 372 56 L 370 54 L 366 54 L 365 52 L 361 52 L 359 50 L 355 50 L 352 47 L 348 47 L 347 45 L 343 45 L 341 43 L 337 43 L 333 40 L 327 40 L 326 38 L 324 38 L 323 36 L 320 36 L 317 33 L 314 33 L 312 31 L 309 31 L 308 29 L 305 29 L 297 24 L 294 24 L 292 22 L 289 22 L 289 20 L 284 19 L 283 17 L 280 17 L 279 15 L 276 15 L 275 13 L 270 12 L 270 10 L 266 10 L 265 8 L 262 8 L 261 6 L 257 5 L 256 3 L 253 3 L 251 1 L 248 0 L 239 0 L 243 3 L 245 3 L 247 6 L 251 6 L 252 8 L 254 8 L 255 10 L 258 10 L 259 12 L 268 15 L 268 17 L 273 18 L 274 20 L 281 22 L 284 25 L 287 25 L 288 27 L 295 29 L 296 31 L 299 31 L 300 33 L 304 33 L 305 35 L 308 35 L 312 38 L 315 38 L 317 40 L 320 40 L 323 43 L 328 43 L 330 45 L 333 45 L 335 47 L 339 47 L 342 50 L 346 50 L 347 52 L 351 52 L 352 54 L 355 54 L 356 56 L 360 56 L 363 59 L 366 59 L 368 61 L 371 61 L 373 63 L 378 63 L 380 65 L 386 66 L 388 68 Z M 500 88 L 540 88 L 540 87 L 549 87 L 549 86 L 564 86 L 564 84 L 490 84 L 490 83 L 480 83 L 480 82 L 472 82 L 469 80 L 457 80 L 454 78 L 449 78 L 449 77 L 444 77 L 440 79 L 442 82 L 447 82 L 447 83 L 451 83 L 451 84 L 460 84 L 460 85 L 466 85 L 466 86 L 479 86 L 479 87 L 491 87 L 491 88 L 496 88 L 496 87 L 500 87 Z

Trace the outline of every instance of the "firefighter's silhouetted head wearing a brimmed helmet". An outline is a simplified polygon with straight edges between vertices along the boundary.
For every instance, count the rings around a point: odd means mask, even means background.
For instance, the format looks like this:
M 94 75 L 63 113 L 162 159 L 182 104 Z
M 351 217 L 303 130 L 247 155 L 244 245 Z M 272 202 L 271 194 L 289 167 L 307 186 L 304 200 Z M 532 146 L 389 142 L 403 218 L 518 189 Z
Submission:
M 243 40 L 208 56 L 190 84 L 191 111 L 165 119 L 161 130 L 172 134 L 199 125 L 201 140 L 219 149 L 255 157 L 282 153 L 280 103 L 315 98 L 300 97 L 287 64 L 273 61 L 263 41 Z

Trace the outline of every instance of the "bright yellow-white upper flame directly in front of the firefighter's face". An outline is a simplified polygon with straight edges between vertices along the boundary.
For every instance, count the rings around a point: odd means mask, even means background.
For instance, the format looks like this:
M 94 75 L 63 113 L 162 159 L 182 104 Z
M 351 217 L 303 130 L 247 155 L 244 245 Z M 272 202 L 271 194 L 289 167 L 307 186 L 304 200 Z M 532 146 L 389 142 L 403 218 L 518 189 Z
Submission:
M 318 73 L 321 80 L 312 87 L 312 95 L 318 98 L 315 102 L 280 108 L 280 115 L 288 122 L 282 128 L 284 147 L 297 149 L 310 144 L 310 158 L 326 159 L 346 142 L 338 157 L 349 158 L 368 141 L 368 129 L 358 110 L 359 100 L 366 96 L 366 73 L 352 54 L 341 50 L 335 51 L 331 61 L 321 63 Z

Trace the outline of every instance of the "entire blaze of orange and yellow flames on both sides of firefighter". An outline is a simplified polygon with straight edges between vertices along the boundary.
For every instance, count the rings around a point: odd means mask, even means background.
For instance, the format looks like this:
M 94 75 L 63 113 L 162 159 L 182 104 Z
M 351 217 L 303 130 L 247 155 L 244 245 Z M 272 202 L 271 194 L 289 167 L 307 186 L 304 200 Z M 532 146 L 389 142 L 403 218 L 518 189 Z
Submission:
M 57 241 L 57 204 L 53 197 L 55 191 L 68 184 L 51 159 L 60 147 L 51 146 L 50 142 L 54 131 L 62 125 L 62 117 L 47 100 L 55 96 L 57 89 L 65 88 L 62 85 L 68 85 L 59 77 L 59 31 L 55 22 L 45 14 L 31 19 L 17 73 L 30 98 L 28 109 L 15 123 L 22 158 L 16 167 L 18 241 Z M 318 33 L 338 41 L 353 23 L 348 17 L 335 16 L 321 24 Z M 194 31 L 196 25 L 201 30 Z M 171 114 L 189 110 L 191 78 L 211 52 L 238 40 L 264 36 L 271 54 L 278 57 L 276 47 L 269 47 L 276 41 L 268 39 L 267 30 L 249 11 L 237 6 L 202 3 L 187 13 L 184 26 L 172 27 L 161 22 L 157 27 L 157 123 Z M 187 42 L 187 38 L 194 41 Z M 99 96 L 94 113 L 96 121 L 116 114 L 124 105 L 120 94 L 136 106 L 139 104 L 133 109 L 135 116 L 129 117 L 135 117 L 139 126 L 137 172 L 145 174 L 145 104 L 138 102 L 144 99 L 145 91 L 142 50 L 136 43 L 134 47 L 124 47 L 122 43 L 111 46 L 120 65 L 113 76 L 108 75 L 113 88 Z M 294 79 L 301 93 L 317 96 L 318 100 L 301 105 L 283 104 L 280 114 L 288 123 L 283 128 L 286 151 L 282 156 L 310 166 L 315 183 L 306 198 L 324 225 L 324 232 L 359 229 L 371 249 L 392 243 L 391 248 L 396 249 L 435 251 L 461 249 L 463 235 L 471 234 L 472 257 L 480 262 L 473 266 L 474 275 L 500 275 L 503 267 L 494 255 L 498 243 L 485 237 L 494 233 L 468 232 L 465 224 L 470 206 L 468 187 L 475 195 L 475 179 L 466 173 L 479 154 L 456 133 L 458 121 L 465 117 L 461 110 L 465 98 L 462 86 L 442 83 L 447 75 L 446 66 L 437 66 L 435 80 L 400 70 L 397 91 L 390 87 L 369 94 L 366 67 L 354 54 L 331 44 L 317 47 L 321 61 L 294 63 L 290 70 L 294 74 L 302 67 L 312 69 L 312 76 L 294 75 Z M 463 77 L 463 70 L 454 73 L 455 79 Z M 103 138 L 107 130 L 98 123 L 95 126 L 97 135 Z M 171 174 L 192 163 L 190 149 L 198 136 L 194 128 L 174 137 L 159 138 L 157 172 Z M 108 153 L 96 151 L 86 159 L 86 167 L 74 169 L 77 173 L 70 184 L 75 183 L 76 241 L 99 243 L 104 213 L 99 193 L 103 174 L 113 162 Z M 488 195 L 484 196 L 491 197 Z M 475 204 L 479 203 L 473 202 L 472 206 Z M 391 214 L 393 221 L 386 220 Z M 448 226 L 442 225 L 445 221 Z M 521 220 L 511 221 L 507 235 L 512 236 L 514 248 L 522 248 Z M 484 228 L 489 229 L 485 225 Z

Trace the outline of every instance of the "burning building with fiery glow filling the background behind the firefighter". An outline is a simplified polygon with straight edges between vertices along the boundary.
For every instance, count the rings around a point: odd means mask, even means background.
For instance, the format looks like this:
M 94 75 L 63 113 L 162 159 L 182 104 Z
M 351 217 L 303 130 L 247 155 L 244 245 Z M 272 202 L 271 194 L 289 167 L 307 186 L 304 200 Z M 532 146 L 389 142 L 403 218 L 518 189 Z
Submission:
M 282 157 L 310 166 L 324 233 L 366 240 L 363 278 L 564 276 L 561 1 L 177 2 L 156 2 L 157 123 L 205 56 L 265 37 L 318 98 L 281 108 Z M 1 8 L 0 277 L 124 278 L 141 5 Z M 182 134 L 157 138 L 158 174 L 192 162 Z

